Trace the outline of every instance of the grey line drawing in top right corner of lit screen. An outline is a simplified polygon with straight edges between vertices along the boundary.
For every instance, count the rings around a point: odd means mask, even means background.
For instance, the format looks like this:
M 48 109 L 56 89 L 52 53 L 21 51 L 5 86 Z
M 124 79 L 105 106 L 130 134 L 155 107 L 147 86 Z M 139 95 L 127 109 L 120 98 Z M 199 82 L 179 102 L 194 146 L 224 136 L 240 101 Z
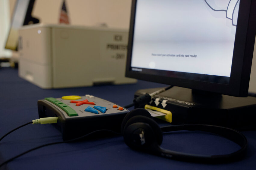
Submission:
M 204 0 L 214 11 L 225 11 L 226 18 L 232 20 L 232 25 L 237 25 L 238 9 L 240 0 Z

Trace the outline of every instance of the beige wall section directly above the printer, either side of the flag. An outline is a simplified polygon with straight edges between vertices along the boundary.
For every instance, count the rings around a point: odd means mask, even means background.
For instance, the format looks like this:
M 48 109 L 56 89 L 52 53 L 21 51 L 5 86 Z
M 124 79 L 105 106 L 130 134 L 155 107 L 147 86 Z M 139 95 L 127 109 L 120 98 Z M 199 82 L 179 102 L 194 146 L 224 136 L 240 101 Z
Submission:
M 41 23 L 58 24 L 61 7 L 62 0 L 36 0 L 32 14 Z M 66 0 L 66 7 L 72 25 L 129 28 L 131 0 Z

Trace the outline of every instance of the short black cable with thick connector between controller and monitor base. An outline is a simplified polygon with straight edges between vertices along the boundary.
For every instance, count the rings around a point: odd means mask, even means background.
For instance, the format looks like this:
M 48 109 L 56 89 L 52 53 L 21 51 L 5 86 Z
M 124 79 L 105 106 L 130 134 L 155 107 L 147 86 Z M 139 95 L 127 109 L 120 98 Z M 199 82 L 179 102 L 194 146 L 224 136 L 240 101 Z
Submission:
M 143 94 L 143 95 L 141 95 L 141 96 L 139 96 L 139 97 L 136 97 L 136 98 L 133 100 L 133 103 L 130 103 L 130 104 L 128 104 L 128 105 L 126 105 L 126 106 L 123 106 L 123 107 L 124 107 L 124 108 L 130 108 L 130 107 L 134 106 L 135 104 L 150 102 L 152 97 L 154 97 L 155 95 L 157 95 L 157 94 L 159 94 L 159 93 L 162 93 L 162 92 L 164 92 L 164 91 L 167 91 L 168 89 L 170 89 L 170 88 L 172 88 L 172 87 L 173 87 L 173 85 L 170 85 L 170 86 L 168 86 L 168 87 L 166 87 L 166 88 L 162 88 L 162 89 L 160 89 L 160 90 L 158 90 L 158 91 L 155 91 L 155 92 L 153 92 L 153 93 L 151 93 L 151 94 L 148 94 L 148 93 Z

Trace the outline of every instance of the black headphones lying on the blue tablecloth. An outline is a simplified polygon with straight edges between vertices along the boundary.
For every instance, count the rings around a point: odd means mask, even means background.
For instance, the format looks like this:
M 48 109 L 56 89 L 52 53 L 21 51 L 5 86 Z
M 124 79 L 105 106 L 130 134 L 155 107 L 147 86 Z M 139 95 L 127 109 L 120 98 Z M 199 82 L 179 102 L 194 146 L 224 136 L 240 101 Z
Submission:
M 178 130 L 200 130 L 214 133 L 235 142 L 241 148 L 231 154 L 224 155 L 187 154 L 161 148 L 160 145 L 163 141 L 162 133 Z M 159 127 L 151 117 L 150 113 L 141 108 L 132 110 L 124 117 L 121 125 L 121 132 L 123 134 L 124 142 L 132 149 L 169 159 L 188 162 L 231 162 L 242 159 L 247 151 L 247 139 L 237 130 L 227 127 L 202 124 L 183 124 Z

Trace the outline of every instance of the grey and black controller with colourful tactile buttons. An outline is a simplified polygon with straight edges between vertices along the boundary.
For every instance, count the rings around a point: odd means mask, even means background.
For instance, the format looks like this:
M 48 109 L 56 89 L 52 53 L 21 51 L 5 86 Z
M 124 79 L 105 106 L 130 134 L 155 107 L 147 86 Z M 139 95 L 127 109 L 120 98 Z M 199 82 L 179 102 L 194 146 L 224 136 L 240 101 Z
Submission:
M 110 101 L 85 96 L 46 97 L 38 100 L 39 118 L 58 117 L 58 128 L 63 140 L 86 135 L 95 130 L 120 132 L 122 120 L 128 109 Z

